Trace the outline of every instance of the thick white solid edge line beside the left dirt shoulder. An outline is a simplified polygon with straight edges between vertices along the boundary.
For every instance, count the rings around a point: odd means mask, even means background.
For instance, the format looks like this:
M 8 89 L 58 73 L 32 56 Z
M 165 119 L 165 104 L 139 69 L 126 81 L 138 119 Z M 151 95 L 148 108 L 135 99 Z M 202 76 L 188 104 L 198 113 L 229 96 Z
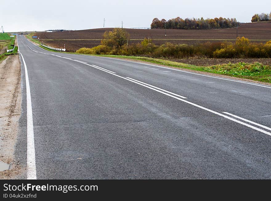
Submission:
M 19 46 L 19 43 L 18 43 L 18 46 Z M 19 48 L 18 48 L 18 50 L 19 50 Z M 21 52 L 19 52 L 19 53 L 22 56 L 22 53 Z M 29 85 L 27 67 L 26 67 L 26 63 L 25 63 L 23 56 L 22 56 L 22 61 L 23 61 L 23 65 L 24 65 L 24 69 L 25 69 L 25 77 L 26 77 L 27 179 L 37 179 L 30 85 Z

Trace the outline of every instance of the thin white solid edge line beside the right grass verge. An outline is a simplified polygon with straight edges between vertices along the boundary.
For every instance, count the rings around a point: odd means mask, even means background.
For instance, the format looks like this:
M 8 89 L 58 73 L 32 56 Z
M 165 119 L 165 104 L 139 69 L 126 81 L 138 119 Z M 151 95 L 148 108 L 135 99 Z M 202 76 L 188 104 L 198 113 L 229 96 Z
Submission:
M 88 57 L 99 57 L 99 56 L 91 56 L 91 55 L 84 55 L 84 54 L 80 54 L 80 55 L 88 56 Z M 120 60 L 120 61 L 124 61 L 124 62 L 132 62 L 132 61 L 127 61 L 127 60 L 117 59 L 117 58 L 110 58 L 110 57 L 99 57 L 99 58 L 108 58 L 108 59 L 115 59 L 115 60 Z M 232 79 L 226 79 L 226 78 L 214 77 L 214 76 L 210 76 L 210 75 L 204 75 L 204 74 L 192 73 L 192 72 L 188 72 L 188 71 L 184 71 L 184 70 L 178 70 L 178 69 L 173 69 L 173 68 L 168 68 L 168 67 L 163 67 L 163 66 L 156 66 L 156 65 L 151 65 L 151 64 L 146 64 L 146 63 L 140 63 L 140 62 L 132 62 L 132 63 L 139 63 L 139 64 L 142 64 L 142 65 L 155 66 L 155 67 L 159 67 L 159 68 L 165 68 L 165 69 L 180 71 L 180 72 L 184 72 L 184 73 L 190 73 L 190 74 L 195 74 L 195 75 L 200 75 L 200 76 L 205 76 L 205 77 L 210 77 L 210 78 L 216 78 L 216 79 L 222 79 L 222 80 L 227 80 L 227 81 L 232 81 L 232 82 L 240 82 L 240 83 L 244 83 L 244 84 L 250 84 L 250 85 L 255 85 L 255 86 L 261 86 L 261 87 L 265 87 L 265 88 L 271 89 L 270 86 L 259 85 L 259 84 L 253 84 L 253 83 L 250 83 L 250 82 L 242 82 L 242 81 L 238 81 L 238 80 L 232 80 Z

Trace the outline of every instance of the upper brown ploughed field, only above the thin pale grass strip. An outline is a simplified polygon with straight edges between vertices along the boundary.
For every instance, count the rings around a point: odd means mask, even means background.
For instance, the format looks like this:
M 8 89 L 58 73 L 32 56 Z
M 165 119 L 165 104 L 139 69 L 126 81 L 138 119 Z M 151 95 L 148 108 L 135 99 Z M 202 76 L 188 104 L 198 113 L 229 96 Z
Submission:
M 113 28 L 88 29 L 64 32 L 40 32 L 37 33 L 40 39 L 102 39 L 107 30 Z M 151 36 L 151 39 L 236 39 L 236 28 L 213 29 L 213 30 L 183 30 L 167 29 L 165 36 L 164 29 L 125 29 L 130 34 L 130 39 L 144 39 Z M 271 23 L 254 22 L 243 23 L 238 27 L 238 36 L 244 36 L 254 40 L 271 40 Z

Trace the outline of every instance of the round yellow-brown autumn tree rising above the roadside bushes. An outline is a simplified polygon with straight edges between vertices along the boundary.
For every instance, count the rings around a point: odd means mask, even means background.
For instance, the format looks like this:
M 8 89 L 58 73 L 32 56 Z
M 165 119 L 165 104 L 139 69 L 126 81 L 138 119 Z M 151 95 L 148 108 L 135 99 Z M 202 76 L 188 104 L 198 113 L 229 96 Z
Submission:
M 101 45 L 119 48 L 127 42 L 129 36 L 130 34 L 123 28 L 115 28 L 113 31 L 104 32 Z

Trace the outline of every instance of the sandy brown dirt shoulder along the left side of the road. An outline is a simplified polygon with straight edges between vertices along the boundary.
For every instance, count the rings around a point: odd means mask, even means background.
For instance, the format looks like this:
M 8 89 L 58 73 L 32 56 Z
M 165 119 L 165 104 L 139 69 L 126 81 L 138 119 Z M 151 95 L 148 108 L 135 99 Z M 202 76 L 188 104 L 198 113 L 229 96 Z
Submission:
M 19 55 L 10 55 L 0 63 L 0 162 L 9 165 L 0 171 L 0 179 L 16 179 L 23 169 L 14 158 L 21 115 L 21 65 Z

